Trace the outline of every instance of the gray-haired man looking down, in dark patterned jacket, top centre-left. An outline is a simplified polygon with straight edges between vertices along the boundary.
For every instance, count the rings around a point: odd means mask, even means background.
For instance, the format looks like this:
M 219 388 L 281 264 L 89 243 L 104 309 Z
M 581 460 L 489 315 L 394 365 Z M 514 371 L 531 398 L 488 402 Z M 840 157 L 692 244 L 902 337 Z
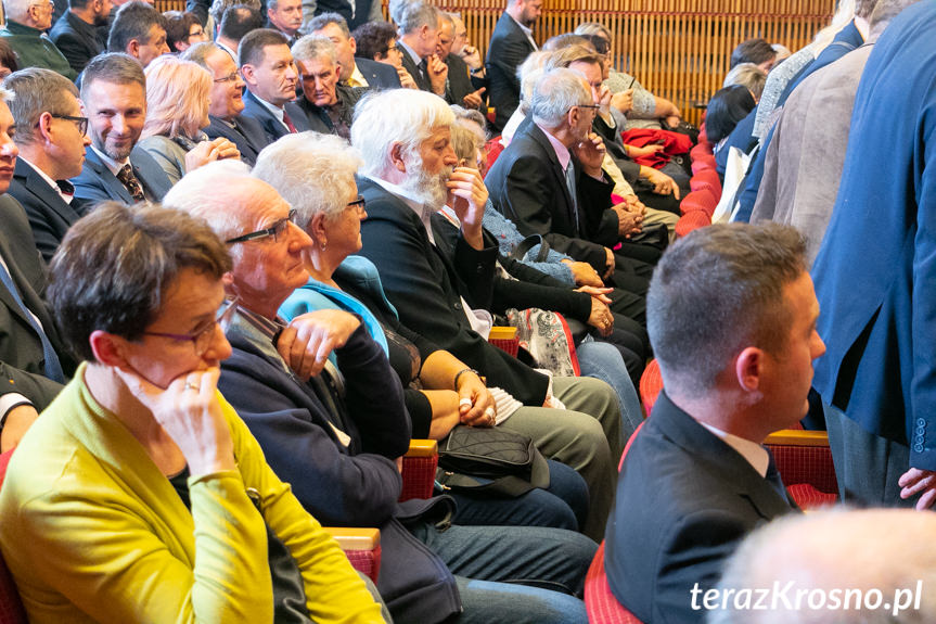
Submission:
M 335 44 L 317 35 L 307 35 L 292 49 L 303 97 L 298 101 L 309 128 L 323 135 L 351 136 L 355 104 L 367 87 L 349 87 L 339 77 L 342 67 Z

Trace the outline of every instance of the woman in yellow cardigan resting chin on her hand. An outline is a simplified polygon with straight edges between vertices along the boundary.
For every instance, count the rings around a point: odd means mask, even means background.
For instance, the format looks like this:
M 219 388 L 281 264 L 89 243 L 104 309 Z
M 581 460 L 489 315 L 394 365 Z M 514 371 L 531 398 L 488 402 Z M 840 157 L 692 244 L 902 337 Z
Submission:
M 383 621 L 218 393 L 230 269 L 204 222 L 157 206 L 103 204 L 63 241 L 50 301 L 84 364 L 0 493 L 30 622 L 269 620 L 286 607 L 274 577 L 319 622 Z M 268 535 L 283 559 L 268 559 Z

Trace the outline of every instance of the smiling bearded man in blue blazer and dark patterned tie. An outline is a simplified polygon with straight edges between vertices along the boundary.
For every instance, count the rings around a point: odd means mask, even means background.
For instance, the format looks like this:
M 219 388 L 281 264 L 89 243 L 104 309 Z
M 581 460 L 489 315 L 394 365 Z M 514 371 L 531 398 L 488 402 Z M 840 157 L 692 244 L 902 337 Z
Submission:
M 89 203 L 161 201 L 171 182 L 150 154 L 136 149 L 146 119 L 146 78 L 140 63 L 127 54 L 102 54 L 82 76 L 91 149 L 81 175 L 72 179 L 75 196 Z

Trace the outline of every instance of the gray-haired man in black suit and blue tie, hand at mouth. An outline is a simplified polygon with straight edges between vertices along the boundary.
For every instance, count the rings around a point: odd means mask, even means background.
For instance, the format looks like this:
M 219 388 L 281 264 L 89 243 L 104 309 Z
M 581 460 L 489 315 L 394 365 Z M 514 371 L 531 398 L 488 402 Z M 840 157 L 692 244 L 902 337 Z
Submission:
M 612 206 L 614 183 L 602 170 L 604 144 L 591 133 L 595 109 L 581 75 L 565 68 L 543 75 L 529 117 L 485 181 L 495 207 L 521 233 L 544 237 L 606 281 L 642 295 L 652 266 L 612 251 L 636 220 L 625 207 Z

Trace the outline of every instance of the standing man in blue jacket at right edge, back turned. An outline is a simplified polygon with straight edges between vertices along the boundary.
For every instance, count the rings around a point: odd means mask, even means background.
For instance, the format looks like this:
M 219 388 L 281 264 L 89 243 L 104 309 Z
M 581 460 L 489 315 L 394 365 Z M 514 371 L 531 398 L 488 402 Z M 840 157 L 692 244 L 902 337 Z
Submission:
M 919 2 L 874 44 L 812 266 L 829 344 L 816 390 L 839 491 L 860 505 L 936 500 L 934 36 L 936 5 Z

